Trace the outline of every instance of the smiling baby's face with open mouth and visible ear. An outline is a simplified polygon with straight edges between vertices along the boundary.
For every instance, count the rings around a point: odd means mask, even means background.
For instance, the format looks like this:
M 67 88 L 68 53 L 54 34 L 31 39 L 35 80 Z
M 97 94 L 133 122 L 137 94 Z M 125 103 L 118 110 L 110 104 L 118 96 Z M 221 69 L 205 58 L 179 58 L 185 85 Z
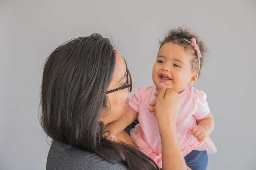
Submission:
M 152 74 L 156 87 L 158 88 L 159 84 L 163 82 L 166 88 L 180 93 L 188 85 L 192 85 L 198 75 L 191 71 L 191 57 L 189 51 L 185 51 L 184 47 L 178 44 L 172 42 L 163 44 L 156 58 Z

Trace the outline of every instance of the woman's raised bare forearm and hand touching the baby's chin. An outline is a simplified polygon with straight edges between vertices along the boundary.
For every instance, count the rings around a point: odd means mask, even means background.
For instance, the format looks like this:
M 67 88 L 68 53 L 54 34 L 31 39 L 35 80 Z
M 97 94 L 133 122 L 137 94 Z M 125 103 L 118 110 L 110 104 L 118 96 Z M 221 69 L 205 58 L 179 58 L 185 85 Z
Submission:
M 180 149 L 176 120 L 181 107 L 178 93 L 160 83 L 154 104 L 162 145 L 163 170 L 186 170 L 187 166 Z

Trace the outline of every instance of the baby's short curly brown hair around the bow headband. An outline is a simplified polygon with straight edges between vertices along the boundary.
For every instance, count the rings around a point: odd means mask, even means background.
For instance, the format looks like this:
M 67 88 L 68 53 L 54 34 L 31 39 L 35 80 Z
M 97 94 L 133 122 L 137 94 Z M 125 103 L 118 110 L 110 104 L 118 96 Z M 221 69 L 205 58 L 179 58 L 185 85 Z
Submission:
M 193 58 L 191 58 L 191 66 L 192 66 L 192 71 L 197 72 L 199 65 L 198 65 L 198 57 L 197 57 L 197 52 L 194 50 L 194 47 L 189 44 L 189 42 L 185 41 L 183 38 L 191 41 L 192 38 L 196 39 L 197 45 L 200 49 L 202 57 L 200 57 L 200 68 L 202 68 L 202 63 L 203 63 L 203 58 L 204 54 L 206 53 L 206 46 L 202 42 L 201 38 L 199 38 L 195 33 L 193 33 L 191 30 L 183 28 L 183 27 L 178 27 L 177 29 L 171 29 L 169 33 L 165 35 L 165 38 L 163 41 L 160 41 L 160 48 L 163 46 L 163 44 L 167 42 L 173 42 L 174 44 L 178 44 L 180 46 L 183 46 L 185 50 L 191 51 Z M 159 49 L 160 49 L 159 48 Z M 198 73 L 200 74 L 201 69 Z

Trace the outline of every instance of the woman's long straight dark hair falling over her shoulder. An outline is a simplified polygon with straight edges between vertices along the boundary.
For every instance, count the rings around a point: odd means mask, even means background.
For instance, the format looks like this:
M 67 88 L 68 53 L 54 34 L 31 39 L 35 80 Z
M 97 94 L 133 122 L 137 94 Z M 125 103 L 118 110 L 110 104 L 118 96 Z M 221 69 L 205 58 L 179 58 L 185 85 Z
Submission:
M 109 108 L 106 91 L 115 59 L 109 39 L 97 33 L 74 38 L 55 49 L 43 70 L 41 126 L 52 139 L 96 153 L 111 163 L 124 163 L 131 170 L 158 169 L 133 146 L 102 137 L 100 116 Z

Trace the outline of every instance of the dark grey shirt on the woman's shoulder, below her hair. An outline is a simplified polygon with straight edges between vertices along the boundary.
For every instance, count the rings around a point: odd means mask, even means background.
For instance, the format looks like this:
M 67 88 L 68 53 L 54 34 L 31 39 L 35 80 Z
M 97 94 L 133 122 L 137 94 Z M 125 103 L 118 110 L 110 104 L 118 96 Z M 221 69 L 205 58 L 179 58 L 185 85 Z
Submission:
M 127 170 L 122 163 L 110 163 L 98 154 L 74 148 L 67 143 L 53 140 L 46 170 Z

